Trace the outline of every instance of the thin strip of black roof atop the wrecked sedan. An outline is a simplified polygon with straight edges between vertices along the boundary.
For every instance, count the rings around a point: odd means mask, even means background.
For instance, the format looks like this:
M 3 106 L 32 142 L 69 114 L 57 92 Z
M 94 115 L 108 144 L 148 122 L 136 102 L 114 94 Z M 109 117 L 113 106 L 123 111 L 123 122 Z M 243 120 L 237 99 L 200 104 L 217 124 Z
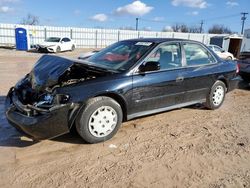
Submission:
M 163 42 L 172 42 L 172 41 L 184 41 L 184 42 L 196 42 L 200 43 L 198 41 L 194 40 L 188 40 L 188 39 L 179 39 L 179 38 L 138 38 L 138 39 L 128 39 L 124 41 L 134 41 L 134 42 L 153 42 L 153 43 L 163 43 Z

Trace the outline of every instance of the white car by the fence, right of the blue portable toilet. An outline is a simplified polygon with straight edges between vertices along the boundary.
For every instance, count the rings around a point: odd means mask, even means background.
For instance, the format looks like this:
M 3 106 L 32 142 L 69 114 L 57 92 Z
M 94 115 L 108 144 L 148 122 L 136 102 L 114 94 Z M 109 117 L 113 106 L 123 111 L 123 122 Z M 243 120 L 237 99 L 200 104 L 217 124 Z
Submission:
M 68 37 L 49 37 L 37 45 L 38 51 L 59 53 L 75 50 L 75 43 Z

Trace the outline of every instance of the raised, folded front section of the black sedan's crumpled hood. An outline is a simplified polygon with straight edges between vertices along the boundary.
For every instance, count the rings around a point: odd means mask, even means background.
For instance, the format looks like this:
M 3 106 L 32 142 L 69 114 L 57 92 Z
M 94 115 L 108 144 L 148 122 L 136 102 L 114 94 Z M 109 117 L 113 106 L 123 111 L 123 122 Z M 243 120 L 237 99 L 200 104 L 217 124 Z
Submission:
M 44 55 L 30 72 L 30 82 L 32 88 L 41 91 L 46 87 L 54 86 L 75 62 L 63 57 Z

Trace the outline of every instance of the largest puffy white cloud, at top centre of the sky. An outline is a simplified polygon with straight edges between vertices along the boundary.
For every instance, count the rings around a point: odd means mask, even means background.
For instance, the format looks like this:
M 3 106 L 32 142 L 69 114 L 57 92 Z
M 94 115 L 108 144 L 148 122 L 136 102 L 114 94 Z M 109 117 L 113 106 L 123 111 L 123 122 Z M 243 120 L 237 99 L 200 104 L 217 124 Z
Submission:
M 115 13 L 118 15 L 133 15 L 133 16 L 143 16 L 153 10 L 154 7 L 148 6 L 141 1 L 134 1 L 131 4 L 125 5 L 123 7 L 118 7 Z

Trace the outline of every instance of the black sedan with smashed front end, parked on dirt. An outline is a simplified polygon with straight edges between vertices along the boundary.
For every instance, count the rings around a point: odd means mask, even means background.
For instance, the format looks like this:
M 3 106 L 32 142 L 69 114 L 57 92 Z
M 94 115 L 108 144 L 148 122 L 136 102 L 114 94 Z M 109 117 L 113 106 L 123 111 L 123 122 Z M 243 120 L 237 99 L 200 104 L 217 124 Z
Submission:
M 196 103 L 219 108 L 238 84 L 237 66 L 181 39 L 117 42 L 90 58 L 45 55 L 8 93 L 6 116 L 34 139 L 72 127 L 89 143 L 110 139 L 123 121 Z

